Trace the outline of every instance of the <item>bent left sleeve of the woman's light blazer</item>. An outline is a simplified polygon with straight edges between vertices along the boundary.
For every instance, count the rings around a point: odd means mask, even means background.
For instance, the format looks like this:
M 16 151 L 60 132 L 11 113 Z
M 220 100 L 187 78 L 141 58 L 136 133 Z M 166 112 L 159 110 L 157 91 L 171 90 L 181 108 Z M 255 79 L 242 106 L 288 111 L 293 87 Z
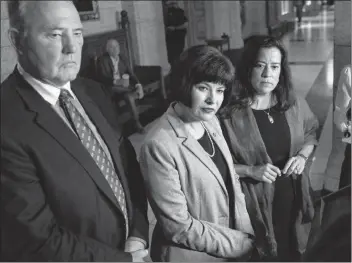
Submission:
M 237 258 L 250 251 L 252 240 L 247 234 L 191 216 L 176 163 L 165 143 L 150 140 L 144 144 L 140 164 L 150 205 L 167 239 L 222 258 Z

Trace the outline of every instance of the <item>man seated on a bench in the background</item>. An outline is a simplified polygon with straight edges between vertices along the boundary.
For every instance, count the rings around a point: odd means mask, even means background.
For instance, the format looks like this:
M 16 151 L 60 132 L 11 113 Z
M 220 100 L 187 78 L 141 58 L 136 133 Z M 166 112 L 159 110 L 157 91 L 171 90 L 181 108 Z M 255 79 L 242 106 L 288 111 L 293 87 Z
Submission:
M 135 100 L 142 99 L 143 87 L 136 75 L 133 74 L 126 59 L 120 54 L 120 45 L 116 39 L 109 39 L 106 43 L 106 52 L 97 59 L 97 80 L 103 83 L 109 92 L 112 92 L 114 102 L 123 98 L 129 107 L 138 132 L 144 133 L 144 127 L 140 123 L 138 109 Z M 128 77 L 126 76 L 128 75 Z M 124 77 L 129 78 L 129 85 L 123 84 Z

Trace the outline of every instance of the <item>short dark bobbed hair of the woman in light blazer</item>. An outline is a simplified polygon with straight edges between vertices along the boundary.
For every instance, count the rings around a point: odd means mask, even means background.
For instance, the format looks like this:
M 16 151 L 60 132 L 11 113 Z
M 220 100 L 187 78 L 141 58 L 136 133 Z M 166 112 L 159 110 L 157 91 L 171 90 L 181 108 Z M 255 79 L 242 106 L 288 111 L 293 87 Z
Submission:
M 231 93 L 235 68 L 218 49 L 197 45 L 182 52 L 169 74 L 170 100 L 191 107 L 191 92 L 201 82 L 218 83 L 225 86 L 222 107 Z

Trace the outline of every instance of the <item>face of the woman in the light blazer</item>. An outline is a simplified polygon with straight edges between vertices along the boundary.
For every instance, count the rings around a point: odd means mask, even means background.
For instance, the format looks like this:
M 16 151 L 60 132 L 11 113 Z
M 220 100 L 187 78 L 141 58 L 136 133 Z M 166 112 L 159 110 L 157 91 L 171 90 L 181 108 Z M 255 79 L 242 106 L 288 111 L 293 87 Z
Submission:
M 208 121 L 215 116 L 224 100 L 225 86 L 212 82 L 201 82 L 192 87 L 192 119 Z

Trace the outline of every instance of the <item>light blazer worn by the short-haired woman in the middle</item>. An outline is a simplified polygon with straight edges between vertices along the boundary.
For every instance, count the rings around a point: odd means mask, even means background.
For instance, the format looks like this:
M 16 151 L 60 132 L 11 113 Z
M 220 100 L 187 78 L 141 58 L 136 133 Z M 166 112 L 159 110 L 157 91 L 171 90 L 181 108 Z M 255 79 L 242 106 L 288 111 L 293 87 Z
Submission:
M 229 228 L 229 196 L 224 180 L 202 146 L 189 135 L 173 105 L 146 137 L 140 165 L 157 218 L 154 261 L 226 261 L 251 249 L 253 229 L 231 154 L 218 119 L 205 122 L 224 155 L 235 195 L 235 229 Z

